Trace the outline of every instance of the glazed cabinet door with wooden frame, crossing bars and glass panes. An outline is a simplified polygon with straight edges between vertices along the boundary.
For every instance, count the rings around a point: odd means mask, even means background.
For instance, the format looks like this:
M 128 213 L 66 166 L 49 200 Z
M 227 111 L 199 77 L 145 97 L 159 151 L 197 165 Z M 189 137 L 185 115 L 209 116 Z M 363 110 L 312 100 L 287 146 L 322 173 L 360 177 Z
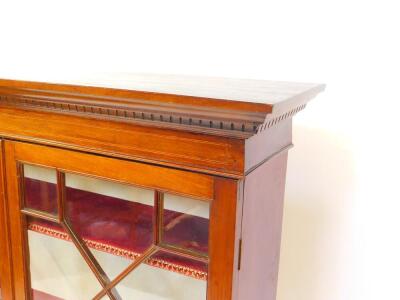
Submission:
M 235 181 L 4 146 L 14 299 L 230 299 Z

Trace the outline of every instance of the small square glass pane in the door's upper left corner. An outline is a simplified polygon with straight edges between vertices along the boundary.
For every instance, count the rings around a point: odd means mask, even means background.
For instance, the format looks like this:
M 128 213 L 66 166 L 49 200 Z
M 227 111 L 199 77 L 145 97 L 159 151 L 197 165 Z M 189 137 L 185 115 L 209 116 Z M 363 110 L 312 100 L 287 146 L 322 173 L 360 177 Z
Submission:
M 57 172 L 24 165 L 25 207 L 57 214 Z

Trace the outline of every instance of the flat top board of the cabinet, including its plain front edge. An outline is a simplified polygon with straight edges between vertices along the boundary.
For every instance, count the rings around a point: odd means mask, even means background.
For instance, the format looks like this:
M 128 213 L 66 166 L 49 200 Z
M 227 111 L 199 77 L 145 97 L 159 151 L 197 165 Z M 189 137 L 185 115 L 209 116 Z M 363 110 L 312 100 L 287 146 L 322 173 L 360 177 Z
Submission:
M 47 83 L 0 80 L 0 86 L 86 94 L 96 92 L 97 95 L 111 94 L 139 99 L 156 98 L 160 102 L 256 112 L 270 112 L 276 104 L 324 89 L 324 85 L 310 83 L 156 74 L 94 75 L 86 79 L 45 81 Z

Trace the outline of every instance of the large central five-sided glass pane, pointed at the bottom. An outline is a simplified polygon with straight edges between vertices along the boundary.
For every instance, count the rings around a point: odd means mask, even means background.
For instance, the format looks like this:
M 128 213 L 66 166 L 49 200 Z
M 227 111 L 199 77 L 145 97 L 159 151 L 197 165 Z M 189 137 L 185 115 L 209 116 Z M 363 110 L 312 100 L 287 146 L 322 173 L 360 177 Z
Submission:
M 66 174 L 66 218 L 113 279 L 153 244 L 154 191 Z

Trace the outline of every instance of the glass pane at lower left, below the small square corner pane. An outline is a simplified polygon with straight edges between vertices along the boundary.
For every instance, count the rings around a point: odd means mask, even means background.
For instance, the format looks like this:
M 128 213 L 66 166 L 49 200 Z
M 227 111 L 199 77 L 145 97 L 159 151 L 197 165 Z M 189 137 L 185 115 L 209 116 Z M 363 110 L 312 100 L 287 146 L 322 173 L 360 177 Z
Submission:
M 38 219 L 28 218 L 28 226 L 33 299 L 92 299 L 101 286 L 69 237 Z

